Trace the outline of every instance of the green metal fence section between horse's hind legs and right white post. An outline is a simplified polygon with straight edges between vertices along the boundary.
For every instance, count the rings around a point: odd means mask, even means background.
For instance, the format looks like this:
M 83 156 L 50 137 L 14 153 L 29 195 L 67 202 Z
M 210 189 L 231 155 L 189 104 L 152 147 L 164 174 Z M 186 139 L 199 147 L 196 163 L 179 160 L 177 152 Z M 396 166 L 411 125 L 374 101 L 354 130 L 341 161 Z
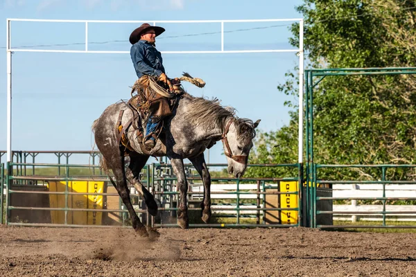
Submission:
M 215 168 L 227 167 L 227 164 L 218 163 L 208 164 L 207 166 L 213 170 Z M 302 172 L 302 168 L 299 163 L 248 165 L 248 168 L 293 168 L 293 171 L 296 172 L 293 177 L 235 179 L 234 177 L 211 176 L 211 222 L 214 221 L 211 224 L 205 224 L 199 218 L 201 211 L 199 203 L 202 201 L 203 190 L 196 191 L 192 189 L 194 186 L 201 187 L 202 179 L 191 164 L 185 164 L 184 167 L 187 173 L 189 187 L 187 197 L 189 202 L 190 227 L 292 227 L 302 226 L 303 224 L 301 213 L 302 202 L 300 198 L 300 188 L 302 186 L 299 186 L 299 184 L 302 184 L 302 174 L 299 173 Z M 157 199 L 159 206 L 161 206 L 159 211 L 165 214 L 165 216 L 152 217 L 152 226 L 177 226 L 176 211 L 178 209 L 179 193 L 176 188 L 177 179 L 173 175 L 171 164 L 153 163 L 151 179 L 151 192 L 153 192 L 155 199 Z M 229 186 L 230 189 L 227 191 L 214 191 L 213 188 L 218 183 L 225 184 L 224 186 Z M 282 188 L 283 184 L 293 183 L 297 183 L 297 188 L 291 186 L 287 191 L 285 188 Z M 235 189 L 234 185 L 236 186 Z M 216 198 L 216 195 L 221 195 L 223 198 Z M 267 206 L 268 199 L 266 197 L 270 196 L 279 198 L 279 204 L 277 206 Z M 248 199 L 248 197 L 252 198 Z M 230 198 L 232 199 L 230 200 Z M 293 205 L 294 198 L 297 202 L 295 205 Z M 284 199 L 287 199 L 288 202 L 291 201 L 293 207 L 288 207 L 286 203 L 282 203 Z M 296 219 L 293 222 L 283 222 L 282 218 L 286 217 L 292 211 L 297 215 Z M 274 213 L 274 215 L 270 215 L 271 213 Z M 267 220 L 268 215 L 270 217 L 276 215 L 275 222 L 273 220 Z

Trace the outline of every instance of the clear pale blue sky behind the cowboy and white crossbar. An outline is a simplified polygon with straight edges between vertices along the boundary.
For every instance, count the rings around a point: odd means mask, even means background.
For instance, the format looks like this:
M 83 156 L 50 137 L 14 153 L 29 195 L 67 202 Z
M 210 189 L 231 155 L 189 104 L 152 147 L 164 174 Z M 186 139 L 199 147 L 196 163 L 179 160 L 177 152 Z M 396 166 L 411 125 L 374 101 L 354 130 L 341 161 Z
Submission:
M 0 46 L 6 18 L 98 20 L 284 19 L 301 17 L 302 1 L 248 0 L 2 0 Z M 287 49 L 288 22 L 225 24 L 225 50 Z M 159 51 L 220 50 L 219 24 L 159 24 Z M 89 24 L 90 50 L 130 51 L 128 37 L 139 24 Z M 270 27 L 270 28 L 262 28 Z M 254 28 L 254 30 L 241 30 Z M 80 50 L 85 27 L 75 23 L 12 22 L 12 47 Z M 203 34 L 211 33 L 211 34 Z M 200 34 L 188 36 L 190 34 Z M 114 42 L 117 41 L 117 42 Z M 94 42 L 107 42 L 94 44 Z M 74 45 L 75 44 L 75 45 Z M 1 48 L 3 51 L 4 47 Z M 288 124 L 287 96 L 277 91 L 284 73 L 298 64 L 295 53 L 164 54 L 170 78 L 182 71 L 207 82 L 185 84 L 194 96 L 219 98 L 237 116 L 261 119 L 259 129 Z M 0 55 L 0 150 L 6 150 L 6 51 Z M 12 55 L 12 149 L 91 150 L 92 122 L 108 105 L 128 99 L 137 76 L 128 54 L 21 53 Z M 223 148 L 211 148 L 211 163 L 225 163 Z M 5 157 L 3 157 L 5 160 Z M 3 161 L 2 159 L 2 161 Z M 74 158 L 75 159 L 75 158 Z M 150 160 L 154 161 L 154 160 Z M 78 162 L 76 160 L 71 161 Z M 83 161 L 81 161 L 83 162 Z M 295 161 L 294 161 L 295 162 Z

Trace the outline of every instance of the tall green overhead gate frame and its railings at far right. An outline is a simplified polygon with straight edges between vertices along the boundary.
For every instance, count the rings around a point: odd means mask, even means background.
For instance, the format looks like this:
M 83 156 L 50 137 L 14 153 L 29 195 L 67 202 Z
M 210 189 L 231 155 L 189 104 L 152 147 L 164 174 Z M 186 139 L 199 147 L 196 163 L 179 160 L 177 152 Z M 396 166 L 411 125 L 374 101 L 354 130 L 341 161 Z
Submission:
M 345 78 L 345 76 L 366 76 L 367 78 L 374 78 L 375 76 L 394 76 L 394 75 L 415 75 L 416 67 L 390 67 L 390 68 L 367 68 L 367 69 L 306 69 L 305 70 L 305 152 L 306 152 L 306 163 L 305 163 L 305 179 L 306 183 L 310 184 L 306 186 L 305 198 L 307 207 L 306 217 L 308 218 L 309 226 L 319 227 L 319 228 L 415 228 L 416 225 L 406 222 L 406 225 L 397 224 L 398 218 L 393 215 L 415 215 L 415 212 L 412 211 L 413 208 L 409 208 L 416 204 L 415 197 L 410 197 L 406 195 L 388 195 L 388 190 L 386 186 L 389 185 L 405 185 L 405 184 L 416 184 L 416 181 L 395 181 L 394 179 L 388 180 L 386 178 L 385 172 L 388 169 L 394 168 L 415 168 L 415 165 L 324 165 L 319 164 L 315 161 L 314 151 L 316 150 L 314 140 L 314 91 L 319 89 L 318 85 L 325 78 Z M 318 157 L 319 158 L 319 157 Z M 324 176 L 336 176 L 336 175 L 325 175 L 325 172 L 329 170 L 347 170 L 347 169 L 358 169 L 358 168 L 373 168 L 378 169 L 379 172 L 373 172 L 372 175 L 367 176 L 369 181 L 357 181 L 357 180 L 345 180 L 344 177 L 340 177 L 341 180 L 336 179 L 324 179 Z M 373 171 L 374 171 L 373 170 Z M 414 175 L 414 174 L 413 174 Z M 339 175 L 338 175 L 339 176 Z M 350 175 L 351 176 L 351 175 Z M 358 179 L 358 177 L 356 178 Z M 379 193 L 374 196 L 368 195 L 358 195 L 358 193 L 352 193 L 349 195 L 338 195 L 334 197 L 333 194 L 333 184 L 344 185 L 344 186 L 359 186 L 360 184 L 379 184 Z M 329 192 L 320 191 L 320 187 L 326 186 L 329 188 Z M 374 191 L 373 191 L 374 193 Z M 381 195 L 380 195 L 381 193 Z M 372 205 L 378 202 L 382 205 L 381 211 L 379 208 L 376 209 L 366 209 L 365 206 Z M 349 211 L 336 211 L 335 205 L 337 204 L 347 204 L 352 203 L 349 207 Z M 388 205 L 388 203 L 392 205 Z M 358 207 L 356 207 L 358 206 Z M 392 206 L 395 206 L 394 208 Z M 400 206 L 402 208 L 400 208 Z M 356 220 L 353 220 L 353 224 L 346 224 L 346 222 L 338 222 L 338 224 L 327 224 L 322 222 L 320 219 L 325 216 L 335 216 L 340 215 L 352 215 L 354 218 L 361 215 L 381 215 L 381 224 L 380 222 L 372 222 L 372 224 L 363 224 L 363 222 L 357 223 Z M 388 220 L 390 220 L 388 222 Z M 324 220 L 325 221 L 325 220 Z

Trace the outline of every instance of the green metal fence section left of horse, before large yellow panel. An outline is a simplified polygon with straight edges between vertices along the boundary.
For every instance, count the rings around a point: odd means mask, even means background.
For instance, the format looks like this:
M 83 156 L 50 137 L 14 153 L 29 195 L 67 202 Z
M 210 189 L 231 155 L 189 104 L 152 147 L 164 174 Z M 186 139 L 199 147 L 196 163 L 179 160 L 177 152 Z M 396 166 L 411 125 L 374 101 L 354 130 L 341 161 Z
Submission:
M 36 162 L 35 157 L 38 155 L 46 155 L 49 160 L 53 161 L 53 157 L 58 159 L 58 163 L 39 163 Z M 69 157 L 71 155 L 81 155 L 86 156 L 87 163 L 89 164 L 70 164 Z M 90 151 L 72 151 L 72 152 L 60 152 L 60 151 L 39 151 L 39 152 L 13 152 L 12 159 L 13 162 L 6 163 L 6 165 L 1 164 L 1 172 L 7 171 L 7 175 L 3 176 L 3 182 L 5 184 L 4 203 L 3 203 L 3 213 L 6 215 L 4 217 L 3 223 L 8 225 L 19 225 L 19 226 L 83 226 L 84 224 L 72 223 L 68 220 L 68 215 L 75 215 L 78 213 L 102 213 L 104 214 L 114 214 L 114 216 L 119 221 L 117 225 L 127 224 L 126 220 L 128 217 L 126 214 L 128 211 L 123 207 L 121 199 L 119 198 L 118 193 L 104 193 L 104 192 L 95 192 L 85 191 L 77 192 L 75 189 L 71 189 L 69 184 L 72 182 L 98 182 L 104 183 L 103 187 L 107 188 L 107 184 L 110 184 L 110 180 L 107 175 L 103 173 L 100 166 L 98 166 L 99 161 L 99 152 L 90 152 Z M 26 159 L 31 157 L 31 159 Z M 65 159 L 61 159 L 64 157 Z M 27 162 L 31 161 L 31 162 Z M 3 166 L 6 166 L 7 170 L 3 170 Z M 78 173 L 77 173 L 78 172 Z M 143 170 L 144 179 L 142 183 L 145 186 L 148 186 L 148 166 Z M 58 191 L 58 182 L 60 183 L 60 190 Z M 56 184 L 56 190 L 50 190 L 49 185 L 51 183 Z M 89 186 L 89 184 L 87 185 Z M 110 184 L 112 188 L 112 184 Z M 64 189 L 62 189 L 64 188 Z M 73 187 L 72 187 L 73 188 Z M 52 204 L 51 197 L 60 198 L 60 204 Z M 117 200 L 114 200 L 113 208 L 99 208 L 95 203 L 88 205 L 87 207 L 78 207 L 75 204 L 78 204 L 80 201 L 84 203 L 89 203 L 91 199 L 89 197 L 116 197 Z M 133 201 L 137 207 L 141 205 L 139 195 L 131 193 Z M 45 198 L 46 197 L 46 198 Z M 14 198 L 19 204 L 13 203 L 11 200 Z M 25 203 L 23 199 L 42 199 L 42 204 L 35 203 Z M 85 199 L 80 199 L 85 198 Z M 95 199 L 94 199 L 95 201 Z M 117 203 L 115 203 L 115 201 Z M 104 200 L 103 200 L 104 202 Z M 90 204 L 90 203 L 89 203 Z M 103 203 L 104 204 L 104 203 Z M 11 216 L 12 213 L 26 213 L 27 217 L 31 218 L 32 215 L 36 214 L 35 220 L 27 220 L 16 218 L 16 216 Z M 52 213 L 62 213 L 64 214 L 63 220 L 60 220 L 58 224 L 54 223 L 51 220 Z M 137 213 L 139 216 L 146 220 L 147 211 L 137 208 Z M 42 217 L 42 221 L 37 221 L 38 218 Z M 44 219 L 46 217 L 46 219 Z M 62 221 L 62 222 L 61 222 Z M 74 222 L 72 220 L 72 222 Z M 94 222 L 93 222 L 94 223 Z M 98 225 L 96 225 L 98 226 Z M 102 226 L 107 226 L 103 224 Z

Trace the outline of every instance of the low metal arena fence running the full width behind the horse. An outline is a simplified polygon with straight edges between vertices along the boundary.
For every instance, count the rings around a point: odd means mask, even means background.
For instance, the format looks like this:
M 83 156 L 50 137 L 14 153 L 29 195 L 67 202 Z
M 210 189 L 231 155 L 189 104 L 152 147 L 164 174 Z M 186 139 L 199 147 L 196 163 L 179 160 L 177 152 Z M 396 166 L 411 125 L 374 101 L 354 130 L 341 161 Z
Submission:
M 37 163 L 35 157 L 45 154 L 60 163 Z M 89 155 L 89 161 L 94 157 L 94 163 L 99 161 L 98 152 L 17 152 L 13 154 L 16 162 L 0 163 L 1 222 L 19 226 L 129 226 L 128 211 L 98 164 L 69 163 L 77 154 Z M 26 163 L 21 162 L 24 157 Z M 416 228 L 416 181 L 387 177 L 388 170 L 414 170 L 416 165 L 316 164 L 309 186 L 295 173 L 294 177 L 282 178 L 215 177 L 218 169 L 226 166 L 209 164 L 212 217 L 211 223 L 205 224 L 200 220 L 202 180 L 193 166 L 186 165 L 190 227 Z M 302 172 L 297 163 L 249 168 Z M 379 175 L 374 174 L 376 181 L 322 178 L 331 170 L 356 168 L 372 168 Z M 154 227 L 177 226 L 179 193 L 171 165 L 146 165 L 140 179 L 159 206 L 158 215 L 150 216 L 139 193 L 130 186 L 132 204 L 141 221 Z M 303 184 L 301 188 L 299 184 Z

